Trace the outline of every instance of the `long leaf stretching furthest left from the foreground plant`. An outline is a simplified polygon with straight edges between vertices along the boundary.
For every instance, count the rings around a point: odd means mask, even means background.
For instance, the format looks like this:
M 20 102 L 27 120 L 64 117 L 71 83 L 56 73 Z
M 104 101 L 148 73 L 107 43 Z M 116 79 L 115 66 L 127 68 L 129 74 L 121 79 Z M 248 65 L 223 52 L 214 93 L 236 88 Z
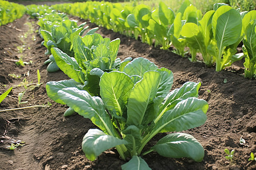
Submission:
M 92 97 L 87 91 L 75 87 L 64 88 L 57 94 L 60 100 L 81 116 L 89 118 L 104 133 L 118 136 L 100 97 Z

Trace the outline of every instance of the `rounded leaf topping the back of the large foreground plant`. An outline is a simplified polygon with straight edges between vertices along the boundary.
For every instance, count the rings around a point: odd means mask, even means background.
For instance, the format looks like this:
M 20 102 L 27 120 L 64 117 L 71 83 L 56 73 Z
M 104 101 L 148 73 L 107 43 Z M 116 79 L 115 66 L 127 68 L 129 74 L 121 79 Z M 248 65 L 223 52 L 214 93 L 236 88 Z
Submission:
M 130 76 L 138 75 L 142 77 L 146 71 L 154 71 L 156 69 L 158 69 L 158 67 L 155 63 L 146 58 L 139 57 L 129 62 L 123 69 L 123 72 Z

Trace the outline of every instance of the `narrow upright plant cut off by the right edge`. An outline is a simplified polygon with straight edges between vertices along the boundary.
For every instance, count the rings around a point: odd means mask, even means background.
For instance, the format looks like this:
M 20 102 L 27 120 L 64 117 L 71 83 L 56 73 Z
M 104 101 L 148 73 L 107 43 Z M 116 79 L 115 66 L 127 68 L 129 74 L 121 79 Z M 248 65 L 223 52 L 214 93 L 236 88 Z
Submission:
M 256 78 L 256 11 L 248 12 L 242 20 L 245 77 Z

